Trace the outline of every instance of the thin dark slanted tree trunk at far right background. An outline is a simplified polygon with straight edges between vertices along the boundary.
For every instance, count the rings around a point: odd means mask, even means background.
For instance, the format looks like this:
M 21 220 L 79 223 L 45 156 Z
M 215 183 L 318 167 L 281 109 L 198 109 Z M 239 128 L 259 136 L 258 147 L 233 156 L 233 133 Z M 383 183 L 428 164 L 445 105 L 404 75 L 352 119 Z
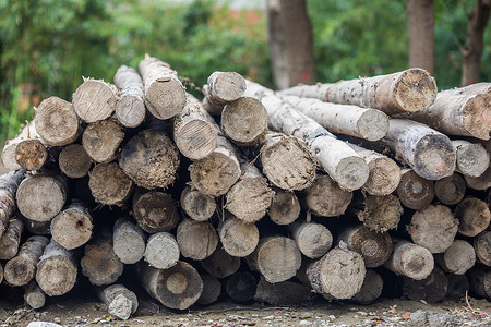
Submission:
M 484 49 L 484 29 L 490 11 L 491 1 L 477 0 L 470 13 L 467 14 L 467 39 L 462 51 L 464 56 L 462 86 L 479 82 L 479 69 Z

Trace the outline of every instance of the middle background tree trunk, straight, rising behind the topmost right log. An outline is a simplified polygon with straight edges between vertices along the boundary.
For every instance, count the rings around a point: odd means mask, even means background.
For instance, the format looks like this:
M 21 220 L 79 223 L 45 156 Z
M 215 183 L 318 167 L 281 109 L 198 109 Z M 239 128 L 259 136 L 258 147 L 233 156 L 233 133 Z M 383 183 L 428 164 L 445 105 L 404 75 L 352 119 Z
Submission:
M 433 0 L 407 0 L 409 28 L 409 68 L 434 71 Z

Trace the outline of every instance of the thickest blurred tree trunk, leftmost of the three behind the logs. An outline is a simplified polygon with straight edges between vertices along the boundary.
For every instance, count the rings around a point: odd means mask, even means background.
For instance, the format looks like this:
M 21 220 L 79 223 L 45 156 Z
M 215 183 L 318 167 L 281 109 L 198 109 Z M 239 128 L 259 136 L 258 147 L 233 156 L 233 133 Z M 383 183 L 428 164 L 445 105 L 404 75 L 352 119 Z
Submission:
M 313 35 L 306 0 L 267 0 L 267 19 L 276 87 L 313 84 Z

